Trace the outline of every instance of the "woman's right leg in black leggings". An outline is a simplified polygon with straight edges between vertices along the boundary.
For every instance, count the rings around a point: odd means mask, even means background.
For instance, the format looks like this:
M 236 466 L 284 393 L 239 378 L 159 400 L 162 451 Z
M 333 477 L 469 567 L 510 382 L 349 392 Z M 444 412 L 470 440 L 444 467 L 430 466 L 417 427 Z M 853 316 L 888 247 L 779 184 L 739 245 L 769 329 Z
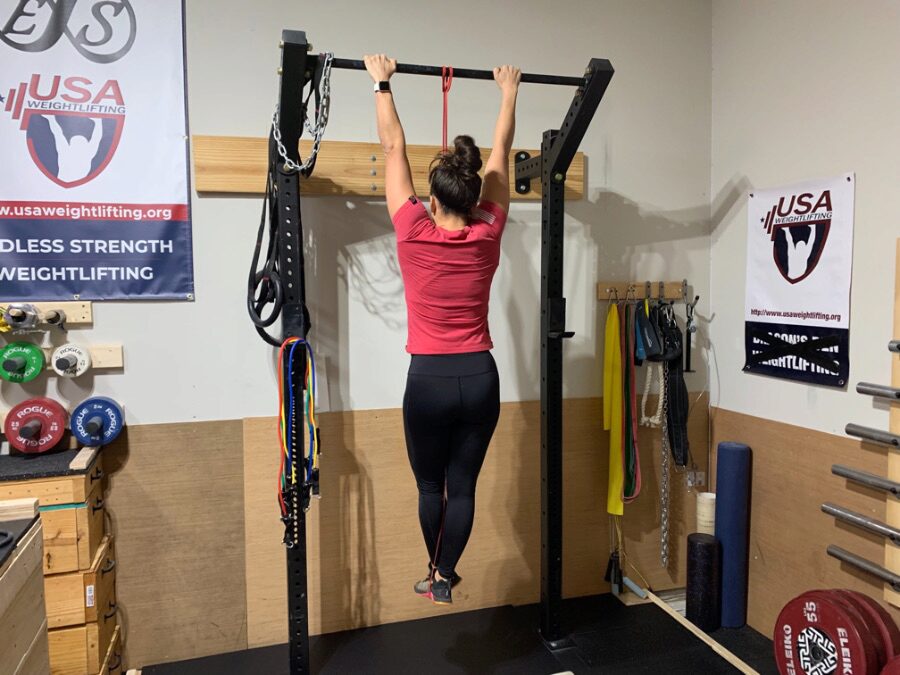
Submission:
M 447 467 L 447 506 L 438 572 L 445 579 L 469 541 L 475 518 L 475 484 L 500 416 L 500 382 L 496 372 L 460 377 L 462 415 L 456 424 Z

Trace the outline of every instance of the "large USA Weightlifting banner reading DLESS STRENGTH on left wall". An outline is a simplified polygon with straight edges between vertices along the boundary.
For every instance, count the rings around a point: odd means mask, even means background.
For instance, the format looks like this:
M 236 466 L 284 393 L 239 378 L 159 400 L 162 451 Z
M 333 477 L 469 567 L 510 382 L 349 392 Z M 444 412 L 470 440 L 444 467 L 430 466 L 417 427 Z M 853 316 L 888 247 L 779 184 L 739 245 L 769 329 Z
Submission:
M 190 299 L 182 0 L 0 0 L 0 298 Z

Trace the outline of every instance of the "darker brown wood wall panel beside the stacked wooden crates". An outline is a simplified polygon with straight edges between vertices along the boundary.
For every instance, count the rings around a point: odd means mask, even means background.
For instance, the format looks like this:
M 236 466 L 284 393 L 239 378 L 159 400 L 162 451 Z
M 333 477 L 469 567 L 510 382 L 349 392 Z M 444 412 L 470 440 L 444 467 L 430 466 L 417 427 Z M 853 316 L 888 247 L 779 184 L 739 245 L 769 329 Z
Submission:
M 125 663 L 246 648 L 241 422 L 131 426 L 103 455 Z

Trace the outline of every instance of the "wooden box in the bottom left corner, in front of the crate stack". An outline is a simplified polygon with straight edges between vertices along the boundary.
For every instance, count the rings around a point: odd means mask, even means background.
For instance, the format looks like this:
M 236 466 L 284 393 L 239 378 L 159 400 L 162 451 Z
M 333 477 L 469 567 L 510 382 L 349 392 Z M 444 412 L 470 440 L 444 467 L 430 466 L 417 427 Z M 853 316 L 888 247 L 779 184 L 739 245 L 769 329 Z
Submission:
M 47 632 L 42 542 L 41 523 L 36 522 L 0 573 L 0 675 L 41 672 L 40 652 Z

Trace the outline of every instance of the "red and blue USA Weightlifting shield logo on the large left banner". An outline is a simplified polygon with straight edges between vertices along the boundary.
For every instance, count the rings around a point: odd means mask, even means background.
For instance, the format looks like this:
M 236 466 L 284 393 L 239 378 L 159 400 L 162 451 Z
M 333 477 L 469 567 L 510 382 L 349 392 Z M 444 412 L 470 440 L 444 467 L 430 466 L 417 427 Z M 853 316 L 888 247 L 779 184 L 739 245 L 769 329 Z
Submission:
M 117 80 L 33 74 L 6 96 L 4 112 L 19 121 L 31 159 L 64 188 L 84 185 L 109 166 L 125 126 Z

